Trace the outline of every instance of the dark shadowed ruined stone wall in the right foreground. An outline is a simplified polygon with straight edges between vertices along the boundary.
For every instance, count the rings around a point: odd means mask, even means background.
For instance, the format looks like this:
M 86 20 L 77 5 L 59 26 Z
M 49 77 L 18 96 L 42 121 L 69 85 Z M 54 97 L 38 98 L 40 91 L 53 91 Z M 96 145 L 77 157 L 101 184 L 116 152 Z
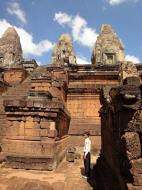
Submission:
M 100 190 L 142 188 L 141 92 L 138 74 L 128 75 L 119 87 L 102 90 L 102 146 L 95 167 Z

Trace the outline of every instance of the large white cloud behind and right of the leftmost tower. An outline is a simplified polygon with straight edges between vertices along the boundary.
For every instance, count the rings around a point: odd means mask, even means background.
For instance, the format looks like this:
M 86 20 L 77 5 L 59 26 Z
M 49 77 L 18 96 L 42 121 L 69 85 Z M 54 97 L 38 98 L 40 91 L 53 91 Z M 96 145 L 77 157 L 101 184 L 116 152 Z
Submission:
M 0 37 L 2 36 L 4 31 L 10 26 L 12 25 L 7 22 L 7 20 L 0 19 Z M 23 54 L 26 57 L 29 55 L 41 56 L 44 52 L 48 52 L 54 46 L 54 44 L 47 39 L 42 40 L 36 44 L 33 42 L 32 34 L 28 33 L 23 28 L 19 28 L 16 26 L 13 27 L 16 29 L 18 35 L 20 36 Z

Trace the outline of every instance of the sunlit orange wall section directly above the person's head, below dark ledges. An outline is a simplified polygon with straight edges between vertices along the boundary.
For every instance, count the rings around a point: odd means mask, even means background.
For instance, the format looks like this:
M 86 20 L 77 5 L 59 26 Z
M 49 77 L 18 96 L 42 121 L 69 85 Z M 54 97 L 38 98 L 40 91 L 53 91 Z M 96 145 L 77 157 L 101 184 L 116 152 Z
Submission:
M 70 135 L 82 135 L 85 131 L 100 135 L 99 95 L 68 95 L 67 106 L 72 118 Z

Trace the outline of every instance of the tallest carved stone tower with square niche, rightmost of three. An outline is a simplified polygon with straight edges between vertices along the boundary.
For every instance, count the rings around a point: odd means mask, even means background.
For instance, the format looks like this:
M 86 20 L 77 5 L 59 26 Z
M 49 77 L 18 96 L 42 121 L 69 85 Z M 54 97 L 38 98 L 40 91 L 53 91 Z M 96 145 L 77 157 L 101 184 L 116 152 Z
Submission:
M 104 24 L 92 53 L 92 64 L 116 64 L 124 61 L 124 47 L 111 25 Z

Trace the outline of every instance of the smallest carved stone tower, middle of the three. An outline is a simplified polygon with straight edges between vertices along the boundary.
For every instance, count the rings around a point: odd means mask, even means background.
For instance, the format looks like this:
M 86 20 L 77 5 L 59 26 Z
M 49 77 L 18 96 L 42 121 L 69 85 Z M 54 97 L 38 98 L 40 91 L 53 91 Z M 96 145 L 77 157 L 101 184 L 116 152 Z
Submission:
M 56 65 L 76 64 L 76 57 L 69 34 L 62 34 L 52 53 L 52 63 Z

